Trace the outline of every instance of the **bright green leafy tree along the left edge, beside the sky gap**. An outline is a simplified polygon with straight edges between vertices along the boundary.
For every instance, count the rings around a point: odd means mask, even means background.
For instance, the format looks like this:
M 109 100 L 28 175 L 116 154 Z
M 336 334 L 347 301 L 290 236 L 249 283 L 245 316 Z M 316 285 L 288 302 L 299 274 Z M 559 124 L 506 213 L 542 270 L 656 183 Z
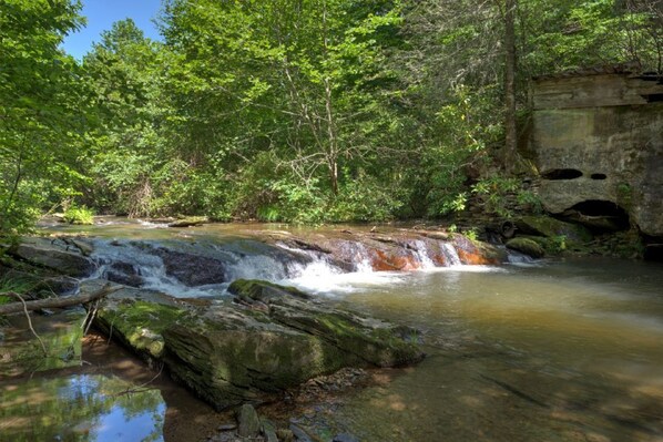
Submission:
M 81 22 L 69 0 L 0 0 L 0 235 L 28 228 L 80 174 L 85 124 L 74 61 L 58 48 Z M 61 185 L 53 185 L 53 182 Z

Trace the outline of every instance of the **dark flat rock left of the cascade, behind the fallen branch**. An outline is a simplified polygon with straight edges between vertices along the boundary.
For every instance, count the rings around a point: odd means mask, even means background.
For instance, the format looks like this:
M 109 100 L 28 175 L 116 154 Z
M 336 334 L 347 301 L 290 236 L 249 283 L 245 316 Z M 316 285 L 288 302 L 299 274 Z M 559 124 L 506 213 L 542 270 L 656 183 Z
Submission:
M 9 251 L 32 265 L 73 277 L 90 276 L 96 269 L 92 260 L 45 238 L 26 238 Z

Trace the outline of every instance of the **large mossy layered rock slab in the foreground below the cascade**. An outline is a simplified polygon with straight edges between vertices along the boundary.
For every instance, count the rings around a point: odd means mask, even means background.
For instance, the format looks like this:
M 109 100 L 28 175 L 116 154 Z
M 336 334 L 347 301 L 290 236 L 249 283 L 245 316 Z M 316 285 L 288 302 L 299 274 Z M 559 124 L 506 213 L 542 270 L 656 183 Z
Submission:
M 86 281 L 93 290 L 100 281 Z M 221 410 L 275 399 L 288 388 L 344 367 L 417 362 L 417 333 L 332 308 L 296 289 L 264 281 L 231 286 L 241 304 L 194 306 L 124 288 L 96 322 Z

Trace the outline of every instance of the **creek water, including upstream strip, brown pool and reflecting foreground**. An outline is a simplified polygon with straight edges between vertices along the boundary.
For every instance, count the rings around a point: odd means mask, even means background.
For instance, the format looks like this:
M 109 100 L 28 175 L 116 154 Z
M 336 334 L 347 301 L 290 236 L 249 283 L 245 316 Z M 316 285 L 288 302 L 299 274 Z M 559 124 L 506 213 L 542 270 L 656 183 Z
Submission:
M 228 259 L 236 258 L 228 270 L 233 277 L 295 285 L 420 330 L 428 354 L 421 363 L 378 370 L 369 387 L 344 394 L 333 408 L 320 404 L 295 418 L 322 440 L 345 432 L 376 442 L 663 441 L 660 264 L 590 257 L 435 267 L 422 259 L 416 271 L 370 271 L 359 263 L 356 271 L 341 273 L 314 258 L 305 265 L 279 266 L 274 256 L 246 243 L 243 234 L 247 228 L 283 226 L 162 227 L 111 219 L 91 227 L 47 229 L 99 237 L 95 253 L 104 254 L 96 257 L 100 271 L 112 261 L 110 254 L 119 250 L 104 246 L 113 240 L 115 245 L 182 240 L 182 249 L 197 247 L 203 254 L 210 247 L 220 253 L 221 247 Z M 159 274 L 159 260 L 136 253 L 141 248 L 135 244 L 131 247 L 122 248 L 122 254 L 130 251 L 123 260 L 131 256 L 132 266 L 142 268 L 152 288 L 180 296 L 225 296 L 227 284 L 178 287 Z M 47 381 L 54 383 L 44 387 Z M 118 393 L 126 387 L 109 373 L 0 382 L 0 441 L 33 440 L 34 433 L 26 430 L 30 425 L 53 428 L 40 440 L 174 441 L 183 440 L 184 430 L 176 436 L 169 431 L 169 410 L 171 422 L 173 410 L 183 413 L 177 425 L 187 420 L 196 425 L 187 410 L 206 413 L 207 419 L 214 415 L 201 411 L 206 409 L 203 404 L 177 404 L 180 398 L 192 399 L 174 393 L 172 386 L 164 388 L 126 400 L 126 394 Z M 74 413 L 75 425 L 67 418 L 76 409 L 72 403 L 90 411 L 80 419 Z M 22 407 L 20 412 L 17 407 Z M 41 421 L 12 430 L 12 422 L 30 413 Z M 79 430 L 72 432 L 72 426 Z

